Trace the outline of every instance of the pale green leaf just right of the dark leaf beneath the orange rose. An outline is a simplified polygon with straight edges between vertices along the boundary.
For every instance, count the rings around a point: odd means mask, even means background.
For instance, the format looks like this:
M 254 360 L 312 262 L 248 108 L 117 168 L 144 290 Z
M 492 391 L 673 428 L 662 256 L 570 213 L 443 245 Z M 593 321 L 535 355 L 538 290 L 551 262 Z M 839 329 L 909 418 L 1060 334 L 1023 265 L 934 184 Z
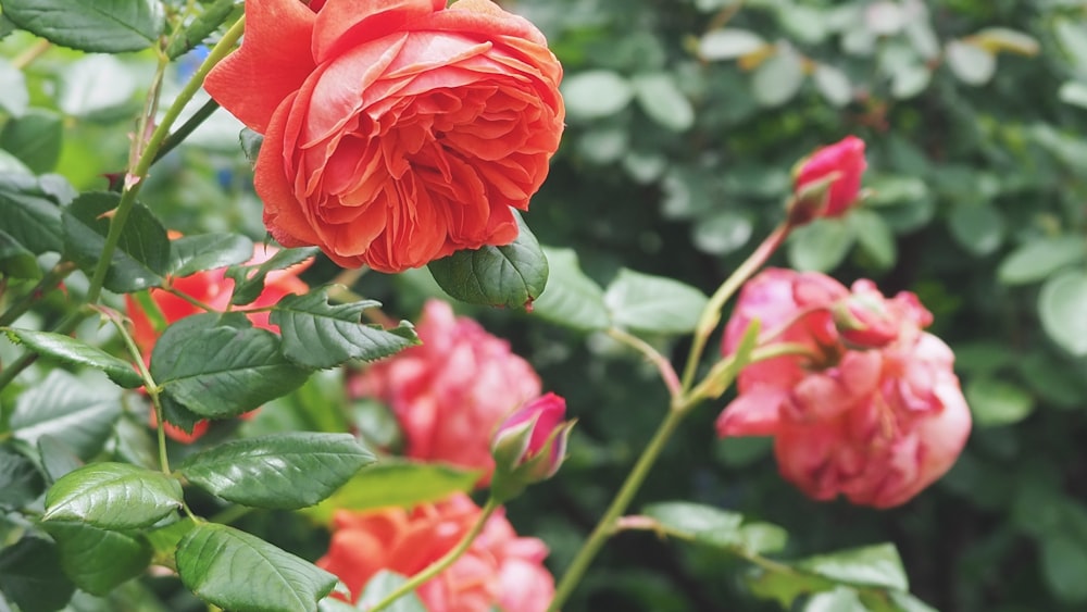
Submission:
M 551 272 L 547 289 L 533 304 L 533 314 L 574 329 L 607 329 L 611 319 L 604 305 L 604 291 L 582 272 L 577 253 L 551 247 L 544 252 Z

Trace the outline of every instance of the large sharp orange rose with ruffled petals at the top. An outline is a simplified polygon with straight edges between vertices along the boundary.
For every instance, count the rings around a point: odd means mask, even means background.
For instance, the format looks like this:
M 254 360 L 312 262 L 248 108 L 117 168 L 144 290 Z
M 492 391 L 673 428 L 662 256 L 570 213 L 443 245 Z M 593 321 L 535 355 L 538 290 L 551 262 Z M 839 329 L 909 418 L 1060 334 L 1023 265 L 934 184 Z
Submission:
M 264 134 L 255 187 L 283 245 L 383 272 L 507 245 L 559 146 L 562 68 L 489 0 L 246 2 L 205 88 Z

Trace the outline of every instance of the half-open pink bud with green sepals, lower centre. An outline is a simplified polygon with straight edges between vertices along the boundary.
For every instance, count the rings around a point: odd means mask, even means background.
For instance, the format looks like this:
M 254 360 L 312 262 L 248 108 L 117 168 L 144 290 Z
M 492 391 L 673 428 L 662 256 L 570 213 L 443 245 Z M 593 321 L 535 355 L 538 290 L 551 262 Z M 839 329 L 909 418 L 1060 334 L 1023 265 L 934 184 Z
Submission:
M 566 454 L 574 425 L 563 421 L 566 400 L 547 394 L 521 407 L 498 427 L 491 441 L 491 496 L 505 500 L 525 486 L 553 476 Z

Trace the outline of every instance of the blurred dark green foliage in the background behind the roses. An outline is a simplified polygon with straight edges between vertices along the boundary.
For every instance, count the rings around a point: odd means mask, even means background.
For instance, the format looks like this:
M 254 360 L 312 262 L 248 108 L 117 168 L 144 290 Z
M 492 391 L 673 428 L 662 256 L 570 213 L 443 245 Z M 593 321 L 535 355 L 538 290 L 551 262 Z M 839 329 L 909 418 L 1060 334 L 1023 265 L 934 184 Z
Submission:
M 704 405 L 635 508 L 694 500 L 739 511 L 785 527 L 790 558 L 892 541 L 911 591 L 940 610 L 1085 609 L 1087 2 L 505 5 L 545 32 L 566 70 L 564 145 L 526 216 L 541 242 L 573 249 L 601 285 L 629 267 L 712 292 L 780 220 L 790 165 L 855 134 L 869 147 L 867 205 L 798 232 L 775 261 L 915 291 L 958 354 L 974 412 L 970 445 L 947 477 L 900 509 L 873 511 L 803 498 L 777 476 L 766 440 L 717 440 L 724 403 Z M 153 63 L 64 49 L 37 57 L 36 45 L 24 33 L 0 41 L 0 168 L 104 188 L 102 175 L 125 164 L 118 126 L 130 125 Z M 24 76 L 17 68 L 30 58 Z M 176 88 L 192 64 L 171 70 Z M 167 226 L 263 237 L 238 128 L 216 113 L 154 167 L 143 200 Z M 312 284 L 336 273 L 317 265 Z M 367 274 L 354 288 L 405 317 L 440 295 L 425 271 Z M 605 337 L 538 316 L 464 312 L 510 338 L 580 420 L 561 476 L 510 504 L 518 530 L 544 537 L 561 573 L 666 394 L 652 369 Z M 683 341 L 657 341 L 685 354 Z M 317 428 L 320 398 L 337 397 L 338 384 L 322 378 L 245 426 Z M 355 408 L 353 422 L 395 437 L 374 407 Z M 310 411 L 312 422 L 284 416 L 291 411 Z M 297 517 L 246 521 L 308 557 L 323 551 L 301 524 L 284 526 Z M 752 592 L 752 572 L 719 551 L 621 534 L 566 610 L 780 609 Z

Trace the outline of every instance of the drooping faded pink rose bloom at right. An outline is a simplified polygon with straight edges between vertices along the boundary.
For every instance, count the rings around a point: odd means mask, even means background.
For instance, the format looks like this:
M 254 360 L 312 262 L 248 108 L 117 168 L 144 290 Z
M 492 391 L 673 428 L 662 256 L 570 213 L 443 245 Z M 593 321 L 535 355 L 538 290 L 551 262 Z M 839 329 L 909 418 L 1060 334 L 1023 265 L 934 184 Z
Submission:
M 807 495 L 876 508 L 904 503 L 954 463 L 970 409 L 954 355 L 922 332 L 932 315 L 913 295 L 888 300 L 870 282 L 850 291 L 822 274 L 767 270 L 740 293 L 725 353 L 753 319 L 762 344 L 790 342 L 809 354 L 746 367 L 739 396 L 717 420 L 721 436 L 773 436 L 782 475 Z

